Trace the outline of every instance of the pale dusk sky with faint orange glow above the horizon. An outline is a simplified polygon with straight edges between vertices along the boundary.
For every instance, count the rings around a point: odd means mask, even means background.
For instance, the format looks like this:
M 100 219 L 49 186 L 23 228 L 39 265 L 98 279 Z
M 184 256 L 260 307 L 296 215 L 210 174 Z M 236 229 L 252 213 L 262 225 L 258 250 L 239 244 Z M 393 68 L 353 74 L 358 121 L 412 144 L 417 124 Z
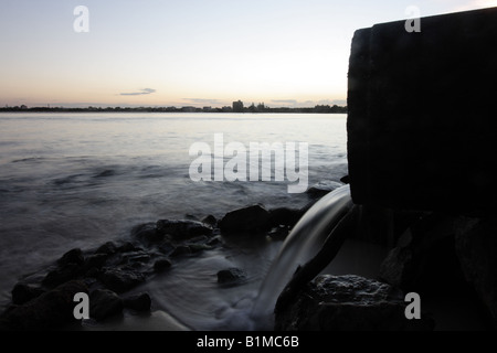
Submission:
M 0 106 L 346 105 L 353 32 L 412 6 L 497 0 L 0 0 Z

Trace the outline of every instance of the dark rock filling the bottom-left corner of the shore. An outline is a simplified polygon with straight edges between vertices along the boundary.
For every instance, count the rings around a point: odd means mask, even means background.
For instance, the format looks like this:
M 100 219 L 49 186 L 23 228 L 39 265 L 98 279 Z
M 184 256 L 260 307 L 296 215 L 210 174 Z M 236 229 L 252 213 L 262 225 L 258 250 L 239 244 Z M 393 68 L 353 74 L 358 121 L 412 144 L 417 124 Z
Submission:
M 87 292 L 81 280 L 65 282 L 22 306 L 13 306 L 0 318 L 0 330 L 51 330 L 74 321 L 74 296 Z

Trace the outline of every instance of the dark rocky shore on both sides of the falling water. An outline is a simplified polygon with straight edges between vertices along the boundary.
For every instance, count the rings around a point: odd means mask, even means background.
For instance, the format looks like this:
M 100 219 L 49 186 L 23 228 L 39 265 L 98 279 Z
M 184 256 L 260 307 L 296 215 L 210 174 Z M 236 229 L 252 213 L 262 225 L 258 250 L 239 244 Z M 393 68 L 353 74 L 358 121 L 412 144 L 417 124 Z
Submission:
M 151 311 L 154 298 L 149 293 L 129 292 L 158 274 L 167 276 L 184 258 L 225 246 L 229 237 L 285 238 L 314 202 L 339 185 L 315 185 L 328 190 L 313 189 L 309 195 L 314 201 L 300 210 L 266 210 L 257 204 L 229 212 L 220 220 L 212 215 L 158 220 L 135 226 L 130 240 L 73 248 L 13 287 L 11 304 L 0 315 L 0 329 L 84 328 L 112 322 L 125 313 L 135 322 L 147 318 L 159 329 L 188 330 L 167 313 Z M 276 313 L 275 330 L 433 330 L 436 318 L 430 312 L 423 311 L 423 320 L 405 319 L 404 295 L 415 291 L 425 298 L 451 290 L 477 301 L 489 327 L 495 324 L 497 267 L 490 266 L 495 265 L 497 246 L 495 220 L 434 213 L 399 213 L 395 220 L 395 244 L 390 246 L 378 278 L 317 276 Z M 359 236 L 388 246 L 383 236 Z M 246 279 L 241 268 L 225 268 L 216 275 L 220 286 L 237 286 Z M 83 321 L 73 315 L 73 298 L 78 292 L 89 297 L 89 319 Z

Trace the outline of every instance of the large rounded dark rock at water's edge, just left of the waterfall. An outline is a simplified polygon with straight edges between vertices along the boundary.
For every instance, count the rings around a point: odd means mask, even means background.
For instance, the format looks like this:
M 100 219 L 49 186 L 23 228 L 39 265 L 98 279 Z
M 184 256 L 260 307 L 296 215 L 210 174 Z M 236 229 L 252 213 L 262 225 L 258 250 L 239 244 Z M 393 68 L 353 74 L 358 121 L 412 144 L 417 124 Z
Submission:
M 256 232 L 271 227 L 271 214 L 261 205 L 231 211 L 219 222 L 221 231 Z

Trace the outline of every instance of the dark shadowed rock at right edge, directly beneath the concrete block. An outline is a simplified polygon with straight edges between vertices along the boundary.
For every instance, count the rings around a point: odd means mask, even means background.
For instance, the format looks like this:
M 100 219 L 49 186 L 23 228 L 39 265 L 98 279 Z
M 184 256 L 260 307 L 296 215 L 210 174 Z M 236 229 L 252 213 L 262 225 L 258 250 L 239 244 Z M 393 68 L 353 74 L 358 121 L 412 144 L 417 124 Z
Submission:
M 455 228 L 455 248 L 464 277 L 497 328 L 497 220 L 459 217 Z

